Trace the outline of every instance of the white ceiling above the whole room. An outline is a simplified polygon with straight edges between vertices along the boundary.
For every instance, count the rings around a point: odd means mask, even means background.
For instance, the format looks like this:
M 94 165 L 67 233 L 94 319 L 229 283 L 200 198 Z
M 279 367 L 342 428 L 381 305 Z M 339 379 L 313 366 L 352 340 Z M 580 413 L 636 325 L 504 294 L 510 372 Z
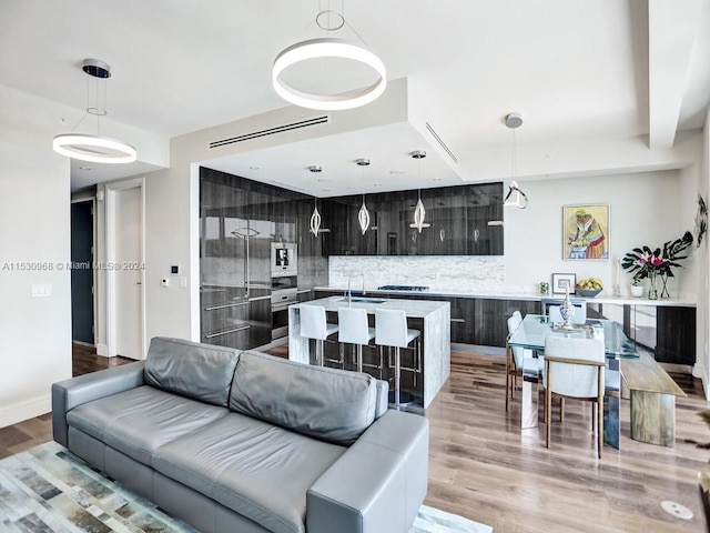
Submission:
M 113 72 L 111 119 L 169 139 L 286 105 L 271 86 L 272 62 L 296 41 L 323 37 L 315 16 L 329 8 L 343 9 L 352 27 L 333 37 L 362 37 L 389 81 L 406 78 L 458 164 L 414 129 L 393 125 L 242 153 L 213 168 L 324 197 L 509 179 L 504 119 L 518 111 L 519 179 L 608 173 L 621 165 L 555 161 L 620 139 L 667 150 L 679 132 L 704 125 L 710 0 L 687 0 L 682 12 L 674 0 L 343 1 L 2 0 L 0 83 L 82 110 L 81 61 L 101 59 Z M 349 83 L 341 67 L 325 70 Z M 294 82 L 311 83 L 312 74 L 297 72 Z M 60 119 L 52 134 L 72 127 Z M 408 158 L 418 149 L 430 154 L 420 165 Z M 373 164 L 362 169 L 357 158 Z M 324 171 L 311 174 L 311 164 Z M 72 164 L 74 190 L 158 168 L 89 167 Z

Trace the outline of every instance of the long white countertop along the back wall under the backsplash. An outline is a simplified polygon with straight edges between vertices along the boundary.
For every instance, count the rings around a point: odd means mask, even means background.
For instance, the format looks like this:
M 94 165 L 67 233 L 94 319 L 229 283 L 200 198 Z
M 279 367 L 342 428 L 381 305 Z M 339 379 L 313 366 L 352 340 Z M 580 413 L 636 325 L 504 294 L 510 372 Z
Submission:
M 332 291 L 332 292 L 342 292 L 345 293 L 347 288 L 342 286 L 314 286 L 314 291 Z M 352 288 L 354 294 L 359 294 L 362 289 Z M 449 292 L 442 290 L 429 290 L 424 292 L 418 291 L 382 291 L 378 289 L 365 289 L 365 295 L 367 294 L 396 294 L 396 295 L 408 295 L 408 296 L 419 296 L 419 298 L 478 298 L 478 299 L 488 299 L 488 300 L 523 300 L 523 301 L 532 301 L 539 302 L 542 299 L 549 300 L 564 300 L 565 294 L 535 294 L 529 292 L 506 292 L 506 291 L 496 291 L 496 290 L 481 290 L 476 292 Z M 649 300 L 645 296 L 633 298 L 633 296 L 612 296 L 611 294 L 598 294 L 595 298 L 581 298 L 575 294 L 570 294 L 570 298 L 574 300 L 587 300 L 590 303 L 613 303 L 617 305 L 653 305 L 653 306 L 681 306 L 681 308 L 694 308 L 697 305 L 694 299 L 689 298 L 665 298 L 658 300 Z

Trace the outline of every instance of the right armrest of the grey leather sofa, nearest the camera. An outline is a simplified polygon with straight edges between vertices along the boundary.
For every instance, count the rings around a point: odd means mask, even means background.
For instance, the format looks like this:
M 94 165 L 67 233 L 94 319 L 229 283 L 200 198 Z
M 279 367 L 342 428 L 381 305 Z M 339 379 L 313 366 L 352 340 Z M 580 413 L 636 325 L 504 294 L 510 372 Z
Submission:
M 387 411 L 308 490 L 308 533 L 407 531 L 426 496 L 428 452 L 428 421 Z

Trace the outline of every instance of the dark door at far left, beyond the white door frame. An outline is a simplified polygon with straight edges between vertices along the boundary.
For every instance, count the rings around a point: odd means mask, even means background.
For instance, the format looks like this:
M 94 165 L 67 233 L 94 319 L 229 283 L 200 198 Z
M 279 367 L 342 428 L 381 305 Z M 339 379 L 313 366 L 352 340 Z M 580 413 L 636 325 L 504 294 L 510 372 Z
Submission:
M 71 338 L 93 345 L 93 200 L 71 204 Z

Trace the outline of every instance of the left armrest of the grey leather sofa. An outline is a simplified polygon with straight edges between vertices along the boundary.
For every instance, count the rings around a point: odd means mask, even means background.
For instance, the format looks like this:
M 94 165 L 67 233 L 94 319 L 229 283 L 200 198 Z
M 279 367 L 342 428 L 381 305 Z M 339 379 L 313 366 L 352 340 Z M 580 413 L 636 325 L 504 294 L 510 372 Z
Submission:
M 110 396 L 143 384 L 144 361 L 112 366 L 52 384 L 52 435 L 68 446 L 67 413 L 77 405 Z

